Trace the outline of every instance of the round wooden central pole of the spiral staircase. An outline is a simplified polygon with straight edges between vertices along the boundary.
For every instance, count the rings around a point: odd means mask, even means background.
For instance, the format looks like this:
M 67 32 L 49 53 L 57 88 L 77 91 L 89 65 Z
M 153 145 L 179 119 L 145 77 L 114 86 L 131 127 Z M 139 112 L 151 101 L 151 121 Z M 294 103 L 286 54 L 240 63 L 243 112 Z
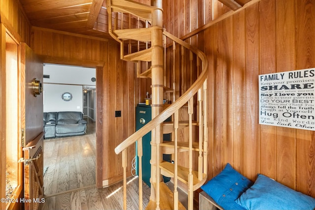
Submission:
M 154 119 L 162 111 L 163 106 L 163 87 L 164 87 L 164 56 L 163 56 L 163 12 L 162 0 L 152 0 L 152 5 L 160 9 L 152 12 L 152 27 L 157 26 L 151 33 L 151 49 L 152 49 L 152 119 Z M 163 141 L 163 131 L 161 125 L 152 131 L 151 140 L 151 185 L 159 186 L 157 176 L 160 176 L 158 162 L 162 161 L 162 154 L 157 154 L 157 148 Z M 156 156 L 158 155 L 158 157 Z M 157 162 L 158 160 L 158 162 Z M 158 179 L 160 180 L 160 179 Z M 157 193 L 158 194 L 158 193 Z M 150 200 L 157 201 L 154 188 L 151 187 Z M 158 202 L 157 202 L 158 209 Z

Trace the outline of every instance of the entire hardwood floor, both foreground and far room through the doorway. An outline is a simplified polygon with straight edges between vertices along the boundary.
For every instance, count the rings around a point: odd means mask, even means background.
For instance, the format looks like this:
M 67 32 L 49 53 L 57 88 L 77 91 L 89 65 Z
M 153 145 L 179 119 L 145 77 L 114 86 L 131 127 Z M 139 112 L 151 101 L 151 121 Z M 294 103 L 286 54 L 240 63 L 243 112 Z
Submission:
M 87 134 L 44 140 L 44 198 L 41 210 L 122 210 L 123 182 L 95 187 L 95 124 Z M 127 209 L 139 209 L 138 178 L 127 179 Z M 172 188 L 172 184 L 168 183 Z M 150 188 L 143 184 L 143 207 L 150 200 Z M 187 207 L 187 194 L 180 200 Z

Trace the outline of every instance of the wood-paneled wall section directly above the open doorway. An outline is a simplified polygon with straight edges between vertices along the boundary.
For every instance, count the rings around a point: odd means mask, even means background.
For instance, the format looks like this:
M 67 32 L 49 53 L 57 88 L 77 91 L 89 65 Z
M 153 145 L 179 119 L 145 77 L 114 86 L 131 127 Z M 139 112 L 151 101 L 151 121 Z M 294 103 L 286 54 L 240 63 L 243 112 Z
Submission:
M 74 33 L 32 28 L 31 46 L 47 63 L 103 66 L 108 40 Z

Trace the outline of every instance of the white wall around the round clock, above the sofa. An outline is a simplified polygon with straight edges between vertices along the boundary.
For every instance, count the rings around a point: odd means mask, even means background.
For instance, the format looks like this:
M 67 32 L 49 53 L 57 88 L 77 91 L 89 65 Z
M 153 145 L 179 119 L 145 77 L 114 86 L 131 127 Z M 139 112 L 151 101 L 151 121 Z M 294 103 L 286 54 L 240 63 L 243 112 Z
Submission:
M 76 111 L 83 112 L 83 86 L 44 84 L 44 112 Z M 72 100 L 64 101 L 64 92 L 72 94 Z

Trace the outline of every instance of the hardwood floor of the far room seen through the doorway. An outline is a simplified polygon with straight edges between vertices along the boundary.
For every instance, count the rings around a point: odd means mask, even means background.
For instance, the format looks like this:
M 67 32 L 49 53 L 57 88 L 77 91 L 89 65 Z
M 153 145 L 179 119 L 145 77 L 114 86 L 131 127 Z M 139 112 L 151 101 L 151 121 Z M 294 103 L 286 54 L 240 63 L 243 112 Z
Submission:
M 45 195 L 94 185 L 95 159 L 95 134 L 44 140 Z

